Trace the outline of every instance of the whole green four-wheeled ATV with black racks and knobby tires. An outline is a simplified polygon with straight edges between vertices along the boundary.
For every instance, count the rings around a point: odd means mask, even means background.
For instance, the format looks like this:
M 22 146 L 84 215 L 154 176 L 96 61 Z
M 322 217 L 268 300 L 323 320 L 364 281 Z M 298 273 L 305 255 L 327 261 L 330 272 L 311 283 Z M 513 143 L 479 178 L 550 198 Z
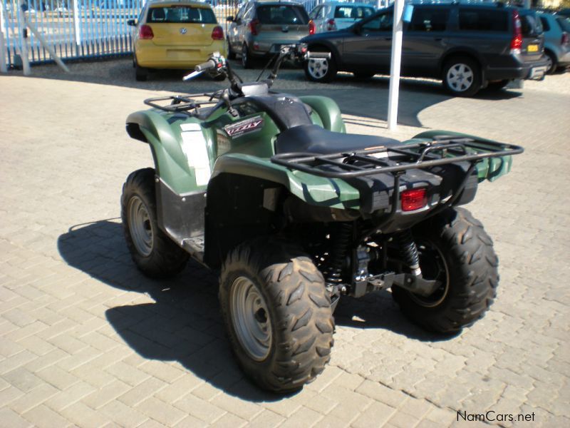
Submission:
M 214 55 L 188 77 L 225 74 L 223 91 L 150 98 L 128 116 L 155 169 L 131 173 L 121 210 L 133 260 L 168 277 L 189 257 L 220 271 L 234 354 L 260 387 L 289 392 L 324 369 L 343 295 L 391 288 L 435 332 L 478 320 L 496 294 L 497 256 L 458 205 L 507 173 L 522 148 L 445 131 L 409 141 L 345 133 L 334 101 L 243 83 Z M 202 101 L 206 96 L 207 98 Z

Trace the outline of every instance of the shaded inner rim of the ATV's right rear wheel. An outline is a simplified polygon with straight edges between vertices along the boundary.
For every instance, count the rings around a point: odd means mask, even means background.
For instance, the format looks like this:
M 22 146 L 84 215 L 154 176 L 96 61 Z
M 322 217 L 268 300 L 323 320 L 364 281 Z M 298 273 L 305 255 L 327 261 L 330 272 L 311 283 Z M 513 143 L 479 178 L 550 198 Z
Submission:
M 440 305 L 450 290 L 450 270 L 445 257 L 437 245 L 428 240 L 417 239 L 418 253 L 420 253 L 420 268 L 426 280 L 438 280 L 442 285 L 427 297 L 408 292 L 411 299 L 423 307 L 436 307 Z

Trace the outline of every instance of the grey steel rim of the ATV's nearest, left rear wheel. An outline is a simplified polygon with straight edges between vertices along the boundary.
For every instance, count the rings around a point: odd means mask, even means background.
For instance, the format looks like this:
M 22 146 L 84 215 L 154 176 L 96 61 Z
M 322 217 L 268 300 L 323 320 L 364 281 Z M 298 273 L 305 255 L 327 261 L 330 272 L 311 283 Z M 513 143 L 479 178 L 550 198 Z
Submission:
M 265 360 L 273 336 L 269 311 L 261 292 L 252 280 L 240 276 L 232 283 L 229 301 L 232 324 L 242 348 L 253 360 Z

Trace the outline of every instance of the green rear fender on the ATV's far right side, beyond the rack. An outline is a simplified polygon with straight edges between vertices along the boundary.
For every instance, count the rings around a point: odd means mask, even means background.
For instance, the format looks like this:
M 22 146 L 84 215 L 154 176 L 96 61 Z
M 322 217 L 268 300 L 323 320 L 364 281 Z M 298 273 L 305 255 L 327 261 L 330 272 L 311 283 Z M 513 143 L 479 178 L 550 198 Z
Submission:
M 488 140 L 486 138 L 481 138 L 477 136 L 472 136 L 466 133 L 460 132 L 452 132 L 452 131 L 426 131 L 423 133 L 419 133 L 417 136 L 412 138 L 411 140 L 405 141 L 405 143 L 418 143 L 418 140 L 424 141 L 432 141 L 435 136 L 452 136 L 452 137 L 459 137 L 459 138 L 472 138 L 473 140 L 477 141 L 477 143 L 481 143 L 481 149 L 477 150 L 477 152 L 484 153 L 493 151 L 491 148 L 485 149 L 485 143 L 497 143 L 496 141 Z M 497 178 L 501 177 L 509 173 L 512 168 L 512 156 L 500 156 L 498 158 L 484 158 L 482 161 L 477 163 L 477 178 L 479 183 L 484 180 L 494 181 Z

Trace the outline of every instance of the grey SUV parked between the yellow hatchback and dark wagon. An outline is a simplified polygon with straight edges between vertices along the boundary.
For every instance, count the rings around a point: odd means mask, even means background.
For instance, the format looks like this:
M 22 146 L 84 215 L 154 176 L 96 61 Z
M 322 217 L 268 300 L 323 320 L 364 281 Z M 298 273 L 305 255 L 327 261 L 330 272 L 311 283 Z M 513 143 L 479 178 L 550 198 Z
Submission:
M 294 2 L 248 1 L 228 16 L 228 58 L 242 56 L 245 68 L 251 68 L 255 58 L 269 57 L 279 52 L 281 45 L 298 42 L 314 34 L 304 6 Z

